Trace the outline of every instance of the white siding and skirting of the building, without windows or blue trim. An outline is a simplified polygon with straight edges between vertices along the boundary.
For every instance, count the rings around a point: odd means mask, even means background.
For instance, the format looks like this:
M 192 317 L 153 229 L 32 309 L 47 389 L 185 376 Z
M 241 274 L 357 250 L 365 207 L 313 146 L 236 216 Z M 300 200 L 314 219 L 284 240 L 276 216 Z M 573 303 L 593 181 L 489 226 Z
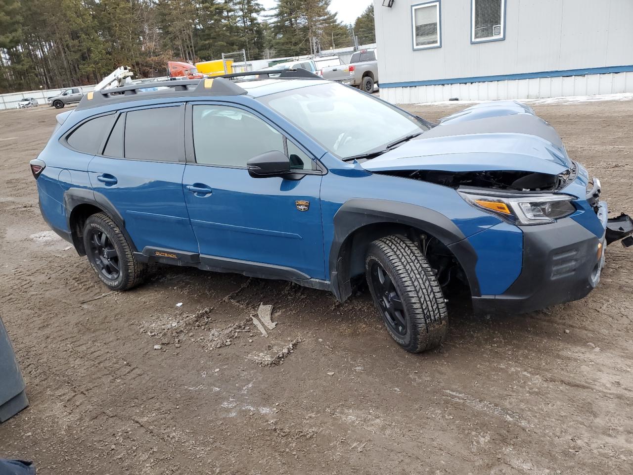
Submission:
M 477 44 L 470 42 L 470 0 L 441 0 L 442 46 L 414 51 L 411 5 L 418 3 L 398 0 L 386 8 L 382 0 L 374 0 L 380 82 L 387 86 L 382 88 L 387 97 L 400 94 L 388 91 L 389 83 L 633 65 L 632 0 L 506 0 L 505 39 Z M 444 98 L 451 91 L 453 96 L 494 99 L 514 93 L 560 96 L 572 90 L 591 94 L 613 89 L 602 83 L 620 80 L 617 76 L 589 75 L 578 79 L 579 84 L 575 79 L 537 78 L 519 80 L 520 85 L 425 86 L 423 95 Z M 630 92 L 630 86 L 616 89 Z

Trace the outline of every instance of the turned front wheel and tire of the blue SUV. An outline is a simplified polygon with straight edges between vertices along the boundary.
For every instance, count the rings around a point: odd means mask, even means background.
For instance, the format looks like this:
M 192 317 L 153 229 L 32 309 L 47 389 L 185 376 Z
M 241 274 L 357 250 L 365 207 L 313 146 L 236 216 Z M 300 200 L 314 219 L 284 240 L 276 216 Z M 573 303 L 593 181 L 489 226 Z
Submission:
M 444 294 L 434 270 L 410 239 L 387 236 L 373 241 L 365 258 L 365 273 L 373 303 L 398 345 L 420 353 L 444 341 Z

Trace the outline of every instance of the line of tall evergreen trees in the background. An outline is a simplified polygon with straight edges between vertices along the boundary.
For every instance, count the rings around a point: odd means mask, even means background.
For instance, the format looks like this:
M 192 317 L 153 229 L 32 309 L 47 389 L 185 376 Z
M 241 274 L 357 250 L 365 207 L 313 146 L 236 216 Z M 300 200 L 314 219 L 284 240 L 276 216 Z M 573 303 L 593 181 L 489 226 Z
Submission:
M 330 0 L 0 0 L 0 93 L 95 84 L 116 67 L 135 77 L 166 63 L 299 56 L 373 42 L 373 6 L 354 25 Z

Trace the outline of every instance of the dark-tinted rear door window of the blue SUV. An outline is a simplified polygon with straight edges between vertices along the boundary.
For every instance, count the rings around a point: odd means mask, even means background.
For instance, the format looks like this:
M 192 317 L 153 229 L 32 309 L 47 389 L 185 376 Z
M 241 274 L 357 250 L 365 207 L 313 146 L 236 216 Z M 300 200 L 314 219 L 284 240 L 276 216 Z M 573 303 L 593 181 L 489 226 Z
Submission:
M 184 161 L 182 107 L 129 111 L 123 138 L 125 158 L 154 162 Z

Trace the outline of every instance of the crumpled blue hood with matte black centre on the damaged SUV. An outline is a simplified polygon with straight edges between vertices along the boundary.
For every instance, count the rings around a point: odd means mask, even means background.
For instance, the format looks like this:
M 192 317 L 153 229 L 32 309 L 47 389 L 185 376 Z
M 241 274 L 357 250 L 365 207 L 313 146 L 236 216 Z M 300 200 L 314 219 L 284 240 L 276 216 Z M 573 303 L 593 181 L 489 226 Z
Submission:
M 449 116 L 437 127 L 361 165 L 372 172 L 513 170 L 558 175 L 571 168 L 572 161 L 551 125 L 527 106 L 503 101 Z

